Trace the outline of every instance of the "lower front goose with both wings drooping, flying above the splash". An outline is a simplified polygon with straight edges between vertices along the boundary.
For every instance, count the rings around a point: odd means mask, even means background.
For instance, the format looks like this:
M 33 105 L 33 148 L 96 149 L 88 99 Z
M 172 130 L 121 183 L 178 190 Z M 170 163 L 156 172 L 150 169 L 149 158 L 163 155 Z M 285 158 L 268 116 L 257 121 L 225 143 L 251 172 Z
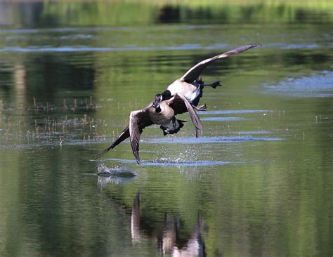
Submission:
M 160 125 L 160 129 L 162 129 L 164 136 L 166 134 L 177 133 L 183 127 L 183 122 L 185 121 L 176 119 L 175 116 L 176 114 L 184 112 L 190 114 L 190 118 L 195 126 L 196 136 L 200 136 L 202 134 L 202 124 L 197 113 L 192 109 L 192 106 L 183 95 L 178 95 L 176 93 L 174 97 L 169 100 L 161 101 L 154 107 L 152 106 L 152 103 L 150 103 L 142 110 L 132 111 L 131 114 L 129 114 L 129 125 L 126 126 L 122 133 L 120 133 L 112 145 L 97 154 L 95 159 L 100 159 L 104 154 L 119 145 L 119 143 L 122 143 L 126 138 L 129 138 L 131 141 L 132 152 L 134 157 L 136 157 L 136 162 L 140 164 L 139 141 L 143 129 L 152 124 L 157 124 Z

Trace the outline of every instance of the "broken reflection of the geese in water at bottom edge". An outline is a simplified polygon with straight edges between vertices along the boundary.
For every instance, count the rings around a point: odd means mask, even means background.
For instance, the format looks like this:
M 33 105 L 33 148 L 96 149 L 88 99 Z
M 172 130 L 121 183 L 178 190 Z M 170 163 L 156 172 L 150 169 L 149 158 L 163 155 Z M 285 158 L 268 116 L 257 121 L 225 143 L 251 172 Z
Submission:
M 169 213 L 165 213 L 162 234 L 152 233 L 146 231 L 147 228 L 149 228 L 147 225 L 145 228 L 141 225 L 141 223 L 148 223 L 149 220 L 143 220 L 144 218 L 141 216 L 140 197 L 140 192 L 137 192 L 131 211 L 131 237 L 133 244 L 143 242 L 146 237 L 150 235 L 150 241 L 152 241 L 156 248 L 159 249 L 159 251 L 162 251 L 163 254 L 171 256 L 206 255 L 204 251 L 204 242 L 201 237 L 203 220 L 200 215 L 198 215 L 197 225 L 195 225 L 192 235 L 190 235 L 190 238 L 185 240 L 185 242 L 178 237 L 181 232 L 181 220 Z

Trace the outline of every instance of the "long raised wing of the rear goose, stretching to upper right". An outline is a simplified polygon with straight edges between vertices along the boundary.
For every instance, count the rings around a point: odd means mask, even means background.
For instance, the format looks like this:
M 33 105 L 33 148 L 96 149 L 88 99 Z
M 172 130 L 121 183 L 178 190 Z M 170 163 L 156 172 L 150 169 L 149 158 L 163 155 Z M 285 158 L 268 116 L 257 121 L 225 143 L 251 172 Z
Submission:
M 197 77 L 199 77 L 202 70 L 204 70 L 204 68 L 207 67 L 207 65 L 209 65 L 209 63 L 214 62 L 215 60 L 218 60 L 218 59 L 221 59 L 221 58 L 228 57 L 230 55 L 235 55 L 237 53 L 242 53 L 242 52 L 247 51 L 250 48 L 254 48 L 258 45 L 259 44 L 250 44 L 250 45 L 245 45 L 245 46 L 238 46 L 237 48 L 235 48 L 233 50 L 230 50 L 226 53 L 221 53 L 220 55 L 216 55 L 212 58 L 202 60 L 197 65 L 190 68 L 190 70 L 188 70 L 188 72 L 186 72 L 183 75 L 183 77 L 181 77 L 181 81 L 186 81 L 188 83 L 192 83 L 193 81 L 195 81 L 195 79 L 197 79 Z

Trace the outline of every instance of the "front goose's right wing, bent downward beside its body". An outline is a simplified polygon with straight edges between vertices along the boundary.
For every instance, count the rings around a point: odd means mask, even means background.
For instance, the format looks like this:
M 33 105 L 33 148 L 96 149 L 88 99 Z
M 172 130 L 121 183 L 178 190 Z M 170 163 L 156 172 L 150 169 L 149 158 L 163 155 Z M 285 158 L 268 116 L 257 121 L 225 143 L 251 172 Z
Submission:
M 167 100 L 167 103 L 172 109 L 174 109 L 175 115 L 188 112 L 192 123 L 195 126 L 195 136 L 198 137 L 202 135 L 202 123 L 197 116 L 197 112 L 193 110 L 192 105 L 183 95 L 176 93 L 173 98 Z

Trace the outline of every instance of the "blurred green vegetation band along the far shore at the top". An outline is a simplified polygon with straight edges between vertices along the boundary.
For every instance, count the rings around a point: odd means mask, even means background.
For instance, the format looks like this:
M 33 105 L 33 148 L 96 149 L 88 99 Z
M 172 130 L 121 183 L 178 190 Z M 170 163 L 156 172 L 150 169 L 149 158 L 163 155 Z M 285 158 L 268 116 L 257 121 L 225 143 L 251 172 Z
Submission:
M 20 4 L 4 15 L 21 25 L 125 26 L 173 22 L 333 22 L 332 1 L 45 1 L 30 19 Z

